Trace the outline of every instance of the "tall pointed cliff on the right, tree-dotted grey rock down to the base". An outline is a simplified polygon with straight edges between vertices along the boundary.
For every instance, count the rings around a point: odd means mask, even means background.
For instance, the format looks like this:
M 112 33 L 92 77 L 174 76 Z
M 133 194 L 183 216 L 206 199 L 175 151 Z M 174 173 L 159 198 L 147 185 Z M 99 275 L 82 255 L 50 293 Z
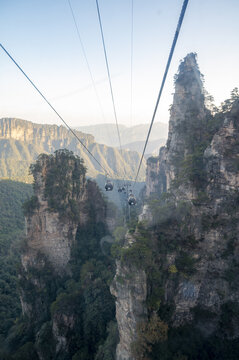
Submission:
M 147 161 L 141 222 L 118 256 L 118 278 L 133 264 L 146 277 L 140 292 L 130 280 L 114 286 L 116 314 L 129 297 L 145 298 L 142 289 L 147 295 L 140 313 L 118 315 L 125 321 L 118 319 L 117 360 L 238 357 L 238 124 L 237 89 L 210 111 L 196 55 L 187 55 L 175 77 L 167 146 Z

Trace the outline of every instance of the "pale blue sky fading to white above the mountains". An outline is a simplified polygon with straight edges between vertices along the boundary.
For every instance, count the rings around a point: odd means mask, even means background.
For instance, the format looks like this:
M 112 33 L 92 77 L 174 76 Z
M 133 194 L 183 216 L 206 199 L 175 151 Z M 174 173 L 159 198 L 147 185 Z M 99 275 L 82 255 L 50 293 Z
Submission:
M 72 127 L 114 123 L 95 0 L 0 0 L 1 44 Z M 150 123 L 183 0 L 99 0 L 120 124 Z M 216 105 L 239 87 L 239 1 L 189 0 L 155 121 L 168 122 L 173 77 L 198 54 Z M 131 107 L 132 75 L 132 107 Z M 131 116 L 132 114 L 132 116 Z M 0 118 L 61 125 L 60 119 L 0 49 Z

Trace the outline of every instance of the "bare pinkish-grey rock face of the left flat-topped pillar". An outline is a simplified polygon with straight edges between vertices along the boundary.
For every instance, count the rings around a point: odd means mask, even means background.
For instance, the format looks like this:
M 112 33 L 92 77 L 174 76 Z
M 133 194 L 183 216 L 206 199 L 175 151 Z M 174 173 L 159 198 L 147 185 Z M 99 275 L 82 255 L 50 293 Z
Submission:
M 54 160 L 53 160 L 54 161 Z M 57 162 L 57 159 L 55 159 Z M 60 165 L 60 164 L 59 164 Z M 39 162 L 39 172 L 35 173 L 35 202 L 37 206 L 33 212 L 26 217 L 26 237 L 28 251 L 22 256 L 22 264 L 25 269 L 29 266 L 28 262 L 34 263 L 34 257 L 40 252 L 49 260 L 56 272 L 66 270 L 66 265 L 70 260 L 71 247 L 74 243 L 77 227 L 79 223 L 84 225 L 87 221 L 85 205 L 88 199 L 87 185 L 84 173 L 80 176 L 80 190 L 73 193 L 74 181 L 72 171 L 74 164 L 68 167 L 66 176 L 70 181 L 72 193 L 65 199 L 66 203 L 75 201 L 79 207 L 79 222 L 71 219 L 70 216 L 60 216 L 59 211 L 51 209 L 45 196 L 46 182 L 49 171 L 49 158 L 43 156 Z M 52 179 L 57 181 L 57 179 Z M 61 191 L 59 186 L 59 191 Z M 64 200 L 61 199 L 61 202 Z M 64 204 L 67 206 L 67 204 Z M 33 254 L 36 254 L 35 256 Z

